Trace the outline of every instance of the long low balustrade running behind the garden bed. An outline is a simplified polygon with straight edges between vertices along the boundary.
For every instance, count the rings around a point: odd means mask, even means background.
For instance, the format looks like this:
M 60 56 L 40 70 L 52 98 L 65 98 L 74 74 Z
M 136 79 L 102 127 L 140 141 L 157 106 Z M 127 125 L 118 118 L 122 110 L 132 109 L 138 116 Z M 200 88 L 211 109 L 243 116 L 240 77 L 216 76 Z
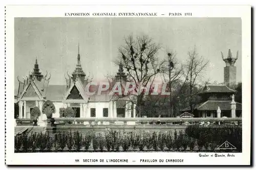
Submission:
M 33 126 L 30 119 L 16 119 L 17 126 Z M 112 117 L 56 117 L 52 118 L 52 123 L 56 125 L 143 125 L 143 126 L 172 126 L 172 125 L 242 125 L 242 118 L 213 118 L 213 117 L 197 117 L 197 118 L 158 118 L 158 117 L 136 117 L 136 118 L 112 118 Z

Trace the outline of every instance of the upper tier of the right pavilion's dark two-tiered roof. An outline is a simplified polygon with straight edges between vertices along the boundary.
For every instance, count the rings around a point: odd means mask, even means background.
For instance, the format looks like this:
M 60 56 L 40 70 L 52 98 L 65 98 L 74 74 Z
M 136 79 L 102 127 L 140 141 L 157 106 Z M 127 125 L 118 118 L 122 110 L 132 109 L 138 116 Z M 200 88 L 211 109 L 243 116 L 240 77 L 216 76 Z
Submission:
M 202 93 L 235 93 L 236 90 L 233 90 L 226 85 L 205 85 Z

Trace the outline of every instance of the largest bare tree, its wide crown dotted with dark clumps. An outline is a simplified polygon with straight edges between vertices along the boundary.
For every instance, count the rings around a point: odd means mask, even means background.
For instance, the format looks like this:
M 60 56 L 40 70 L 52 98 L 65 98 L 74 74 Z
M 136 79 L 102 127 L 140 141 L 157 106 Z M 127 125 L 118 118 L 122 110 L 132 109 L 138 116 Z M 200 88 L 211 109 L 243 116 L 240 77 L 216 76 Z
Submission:
M 120 56 L 115 63 L 122 64 L 131 81 L 136 84 L 137 94 L 129 97 L 137 105 L 138 117 L 141 117 L 144 99 L 144 91 L 138 91 L 139 85 L 152 87 L 156 76 L 164 71 L 164 61 L 160 61 L 157 56 L 160 48 L 159 44 L 147 36 L 129 36 L 125 38 L 125 45 L 118 49 Z

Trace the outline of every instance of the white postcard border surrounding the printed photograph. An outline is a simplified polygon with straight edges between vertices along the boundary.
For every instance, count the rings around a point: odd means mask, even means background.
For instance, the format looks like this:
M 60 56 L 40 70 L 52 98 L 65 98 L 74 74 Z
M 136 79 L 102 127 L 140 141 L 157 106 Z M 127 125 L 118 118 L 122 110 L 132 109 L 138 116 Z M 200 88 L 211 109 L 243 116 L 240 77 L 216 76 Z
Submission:
M 66 12 L 191 12 L 192 17 L 241 17 L 243 82 L 243 153 L 230 158 L 200 158 L 198 153 L 14 153 L 14 17 L 65 17 Z M 67 16 L 66 16 L 67 17 Z M 179 16 L 178 16 L 179 17 Z M 188 16 L 189 17 L 189 16 Z M 75 159 L 129 159 L 105 165 L 248 165 L 251 134 L 251 7 L 250 6 L 7 6 L 6 7 L 6 164 L 93 165 Z M 208 153 L 210 154 L 210 153 Z M 184 159 L 183 163 L 141 163 L 143 159 Z M 136 160 L 133 162 L 132 160 Z

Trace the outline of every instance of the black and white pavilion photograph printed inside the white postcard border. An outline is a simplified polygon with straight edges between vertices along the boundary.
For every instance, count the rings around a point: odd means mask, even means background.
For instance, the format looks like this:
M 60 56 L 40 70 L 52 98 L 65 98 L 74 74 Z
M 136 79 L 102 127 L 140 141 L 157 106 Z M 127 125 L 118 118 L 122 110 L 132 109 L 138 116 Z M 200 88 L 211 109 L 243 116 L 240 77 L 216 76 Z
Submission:
M 191 15 L 14 17 L 14 154 L 242 154 L 242 18 Z

